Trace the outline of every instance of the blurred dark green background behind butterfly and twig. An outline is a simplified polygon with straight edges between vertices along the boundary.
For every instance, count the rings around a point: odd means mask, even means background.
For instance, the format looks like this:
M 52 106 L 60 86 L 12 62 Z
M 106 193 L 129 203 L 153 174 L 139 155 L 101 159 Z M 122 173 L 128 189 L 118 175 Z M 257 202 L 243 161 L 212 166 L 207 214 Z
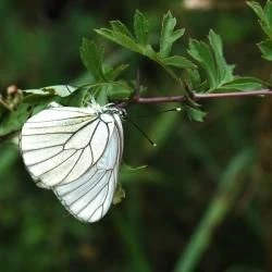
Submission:
M 207 2 L 188 9 L 188 3 Z M 261 2 L 261 1 L 260 1 Z M 186 8 L 187 7 L 187 8 Z M 132 25 L 139 9 L 154 42 L 162 14 L 171 10 L 188 38 L 221 35 L 236 74 L 267 81 L 271 64 L 256 44 L 262 33 L 245 1 L 0 1 L 0 89 L 83 83 L 83 36 L 106 47 L 111 63 L 140 71 L 148 96 L 174 95 L 170 78 L 144 58 L 102 40 L 92 28 L 119 18 Z M 95 224 L 69 215 L 51 191 L 35 186 L 17 147 L 0 146 L 0 271 L 260 272 L 272 271 L 272 100 L 206 101 L 203 123 L 173 106 L 134 106 L 129 116 L 157 143 L 153 148 L 124 124 L 122 203 Z M 148 115 L 148 118 L 141 118 Z

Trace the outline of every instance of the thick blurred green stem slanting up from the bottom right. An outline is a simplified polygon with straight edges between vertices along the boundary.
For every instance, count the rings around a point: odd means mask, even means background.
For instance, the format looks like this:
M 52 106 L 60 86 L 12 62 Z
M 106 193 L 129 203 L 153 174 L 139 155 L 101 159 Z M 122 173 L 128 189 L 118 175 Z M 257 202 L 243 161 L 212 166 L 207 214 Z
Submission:
M 233 158 L 219 182 L 218 189 L 188 246 L 177 260 L 174 272 L 193 272 L 199 265 L 205 251 L 212 242 L 217 227 L 225 219 L 245 186 L 249 169 L 252 168 L 254 150 L 244 149 Z

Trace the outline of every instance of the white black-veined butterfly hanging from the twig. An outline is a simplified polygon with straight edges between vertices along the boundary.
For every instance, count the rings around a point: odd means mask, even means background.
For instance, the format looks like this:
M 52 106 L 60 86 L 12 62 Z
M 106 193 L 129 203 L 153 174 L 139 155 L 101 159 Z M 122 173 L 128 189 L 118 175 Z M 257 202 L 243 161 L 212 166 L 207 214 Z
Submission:
M 123 152 L 124 111 L 95 101 L 87 108 L 51 104 L 27 120 L 20 146 L 39 187 L 52 189 L 78 220 L 96 222 L 109 210 Z

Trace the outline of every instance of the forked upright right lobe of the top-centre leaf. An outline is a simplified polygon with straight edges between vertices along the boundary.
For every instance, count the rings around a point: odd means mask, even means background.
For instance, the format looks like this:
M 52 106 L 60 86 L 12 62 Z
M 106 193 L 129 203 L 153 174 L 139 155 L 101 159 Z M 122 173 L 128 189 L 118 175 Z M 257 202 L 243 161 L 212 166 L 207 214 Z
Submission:
M 159 51 L 161 57 L 168 57 L 170 54 L 174 41 L 181 38 L 185 32 L 184 28 L 174 30 L 175 25 L 176 25 L 176 18 L 173 17 L 171 12 L 169 11 L 163 16 L 162 21 L 160 51 Z

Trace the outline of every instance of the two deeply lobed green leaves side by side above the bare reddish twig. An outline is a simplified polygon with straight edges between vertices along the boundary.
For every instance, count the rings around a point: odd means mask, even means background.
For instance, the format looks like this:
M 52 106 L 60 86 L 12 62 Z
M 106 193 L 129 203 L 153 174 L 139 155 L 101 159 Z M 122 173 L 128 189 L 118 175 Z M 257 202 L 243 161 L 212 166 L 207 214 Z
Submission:
M 136 11 L 134 16 L 135 35 L 133 35 L 120 21 L 112 21 L 111 29 L 101 28 L 96 32 L 113 42 L 156 61 L 180 83 L 182 82 L 182 78 L 180 78 L 169 66 L 185 69 L 188 73 L 188 77 L 191 77 L 193 73 L 199 74 L 199 71 L 194 71 L 199 70 L 199 67 L 184 55 L 170 55 L 173 44 L 177 41 L 185 32 L 184 28 L 174 30 L 175 25 L 176 18 L 173 17 L 171 12 L 164 14 L 161 27 L 160 48 L 158 52 L 156 52 L 152 45 L 148 44 L 148 20 L 139 11 Z M 141 35 L 139 35 L 139 33 L 141 33 Z M 220 36 L 211 30 L 208 39 L 210 47 L 203 41 L 195 39 L 189 41 L 188 53 L 207 73 L 209 83 L 208 89 L 199 90 L 199 86 L 203 84 L 198 83 L 198 85 L 195 85 L 194 82 L 190 82 L 191 89 L 197 91 L 219 91 L 222 89 L 248 90 L 258 89 L 262 86 L 262 83 L 259 79 L 234 76 L 234 65 L 228 65 L 225 62 Z M 206 78 L 203 81 L 206 81 Z M 186 89 L 183 89 L 183 91 L 186 94 Z

